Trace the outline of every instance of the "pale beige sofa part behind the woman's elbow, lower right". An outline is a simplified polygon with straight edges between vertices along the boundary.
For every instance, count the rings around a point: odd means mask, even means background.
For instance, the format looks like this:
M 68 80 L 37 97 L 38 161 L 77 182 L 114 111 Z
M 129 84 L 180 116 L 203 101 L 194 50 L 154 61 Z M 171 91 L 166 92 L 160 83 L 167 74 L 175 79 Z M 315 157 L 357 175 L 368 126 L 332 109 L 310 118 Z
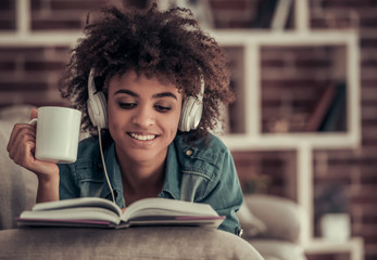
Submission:
M 301 243 L 305 212 L 273 195 L 243 195 L 238 211 L 243 235 L 265 260 L 306 260 Z

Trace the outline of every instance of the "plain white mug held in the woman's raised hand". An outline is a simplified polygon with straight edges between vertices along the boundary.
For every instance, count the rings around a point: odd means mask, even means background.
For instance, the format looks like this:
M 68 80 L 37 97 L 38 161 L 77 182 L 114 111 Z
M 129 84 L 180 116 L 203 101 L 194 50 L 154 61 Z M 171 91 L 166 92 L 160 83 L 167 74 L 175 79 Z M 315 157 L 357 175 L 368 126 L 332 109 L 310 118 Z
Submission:
M 38 108 L 35 157 L 40 160 L 71 164 L 77 158 L 81 113 L 79 110 L 42 106 Z

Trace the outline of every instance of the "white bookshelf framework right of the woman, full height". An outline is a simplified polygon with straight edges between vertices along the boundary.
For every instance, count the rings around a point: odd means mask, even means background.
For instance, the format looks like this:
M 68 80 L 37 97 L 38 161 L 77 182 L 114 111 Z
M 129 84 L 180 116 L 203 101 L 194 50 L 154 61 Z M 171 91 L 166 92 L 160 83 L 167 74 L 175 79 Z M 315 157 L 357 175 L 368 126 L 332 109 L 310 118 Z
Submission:
M 296 194 L 306 212 L 301 243 L 307 253 L 349 252 L 350 259 L 363 259 L 363 242 L 350 238 L 331 243 L 314 237 L 313 151 L 316 148 L 357 148 L 361 143 L 360 122 L 360 50 L 355 30 L 312 30 L 309 25 L 307 1 L 296 0 L 294 28 L 213 30 L 212 36 L 237 60 L 233 82 L 238 100 L 228 110 L 233 131 L 221 138 L 231 151 L 296 151 Z M 261 51 L 264 47 L 329 47 L 339 49 L 335 55 L 342 65 L 345 83 L 345 129 L 343 131 L 266 132 L 262 126 L 262 68 Z M 241 78 L 239 78 L 241 77 Z M 329 95 L 329 93 L 327 93 Z M 235 118 L 236 117 L 236 118 Z

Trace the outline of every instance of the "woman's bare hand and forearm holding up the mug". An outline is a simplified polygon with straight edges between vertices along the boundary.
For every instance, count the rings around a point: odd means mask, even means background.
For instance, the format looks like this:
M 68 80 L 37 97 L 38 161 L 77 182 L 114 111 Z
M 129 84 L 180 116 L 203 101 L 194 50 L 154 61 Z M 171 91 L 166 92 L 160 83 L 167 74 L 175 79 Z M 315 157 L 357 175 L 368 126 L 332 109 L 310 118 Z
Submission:
M 37 108 L 33 108 L 30 119 L 37 117 Z M 9 157 L 15 164 L 33 171 L 38 177 L 37 203 L 59 199 L 59 168 L 56 164 L 35 158 L 36 126 L 16 123 L 8 142 Z

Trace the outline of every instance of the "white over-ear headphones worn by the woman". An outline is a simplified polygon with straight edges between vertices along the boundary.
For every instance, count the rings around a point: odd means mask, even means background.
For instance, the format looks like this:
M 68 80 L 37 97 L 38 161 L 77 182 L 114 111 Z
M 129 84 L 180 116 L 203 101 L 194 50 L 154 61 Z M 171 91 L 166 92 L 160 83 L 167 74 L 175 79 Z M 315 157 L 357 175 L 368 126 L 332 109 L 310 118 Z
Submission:
M 198 98 L 187 96 L 184 101 L 178 129 L 189 132 L 198 128 L 203 113 L 204 77 L 200 70 L 200 93 Z M 103 92 L 98 91 L 95 83 L 95 69 L 90 69 L 88 78 L 88 114 L 91 123 L 101 129 L 108 128 L 108 105 Z

